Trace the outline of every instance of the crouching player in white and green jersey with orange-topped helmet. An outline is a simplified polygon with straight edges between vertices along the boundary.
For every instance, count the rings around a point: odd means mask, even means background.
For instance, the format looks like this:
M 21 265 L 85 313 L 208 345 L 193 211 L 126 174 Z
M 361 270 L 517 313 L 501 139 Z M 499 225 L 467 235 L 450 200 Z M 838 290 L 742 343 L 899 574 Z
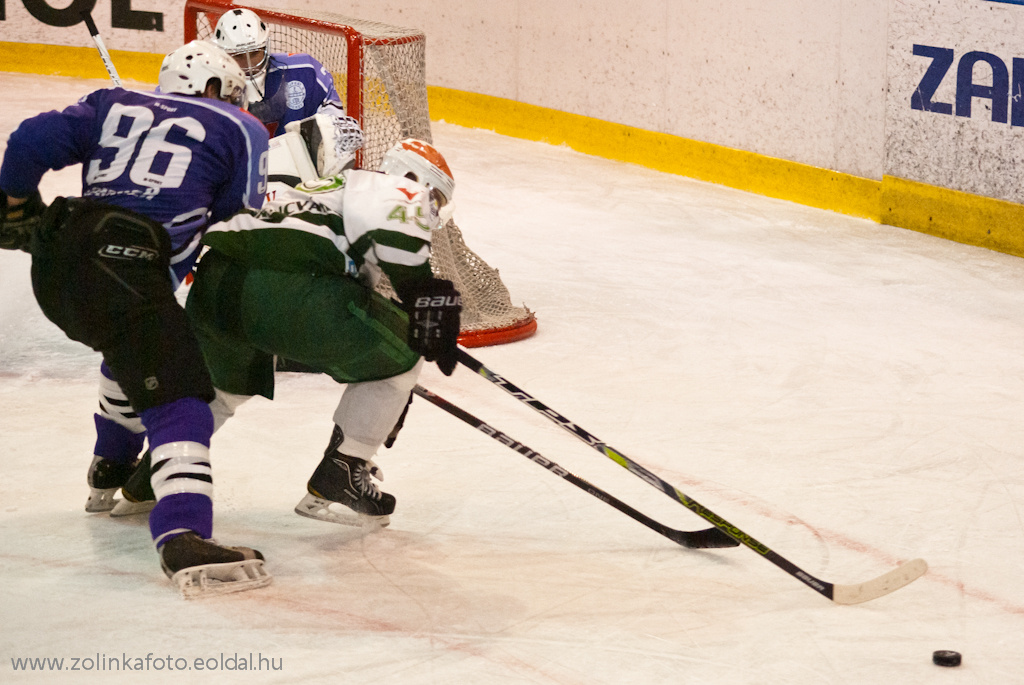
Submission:
M 332 146 L 319 147 L 323 171 Z M 372 481 L 373 457 L 400 425 L 423 361 L 446 375 L 456 367 L 460 296 L 430 268 L 452 171 L 413 139 L 394 145 L 381 171 L 276 184 L 261 210 L 212 226 L 186 306 L 216 388 L 218 428 L 246 399 L 272 399 L 274 355 L 346 384 L 296 506 L 339 523 L 387 525 L 395 499 Z M 382 272 L 400 304 L 375 291 Z

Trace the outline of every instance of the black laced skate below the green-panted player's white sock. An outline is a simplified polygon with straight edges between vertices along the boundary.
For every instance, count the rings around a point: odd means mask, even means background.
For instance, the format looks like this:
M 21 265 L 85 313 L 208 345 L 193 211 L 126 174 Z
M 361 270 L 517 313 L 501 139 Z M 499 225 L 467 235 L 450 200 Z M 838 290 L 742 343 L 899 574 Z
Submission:
M 391 522 L 394 496 L 381 493 L 371 477 L 382 479 L 373 462 L 337 451 L 341 429 L 335 426 L 324 460 L 306 484 L 309 490 L 295 506 L 295 513 L 344 525 L 380 525 Z

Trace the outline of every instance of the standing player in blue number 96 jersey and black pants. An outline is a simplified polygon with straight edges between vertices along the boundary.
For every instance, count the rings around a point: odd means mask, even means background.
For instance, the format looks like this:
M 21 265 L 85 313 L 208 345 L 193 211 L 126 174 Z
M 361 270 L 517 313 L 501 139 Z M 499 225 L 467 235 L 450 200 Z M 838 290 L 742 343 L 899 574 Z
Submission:
M 140 446 L 131 436 L 145 430 L 164 571 L 186 596 L 234 592 L 270 577 L 259 552 L 211 540 L 214 391 L 174 290 L 210 223 L 262 205 L 268 137 L 240 109 L 241 69 L 212 43 L 169 54 L 160 89 L 97 90 L 23 122 L 0 167 L 0 246 L 32 253 L 43 313 L 102 353 L 133 413 L 124 424 L 97 416 L 90 484 L 126 480 Z M 47 208 L 42 176 L 78 163 L 82 197 Z

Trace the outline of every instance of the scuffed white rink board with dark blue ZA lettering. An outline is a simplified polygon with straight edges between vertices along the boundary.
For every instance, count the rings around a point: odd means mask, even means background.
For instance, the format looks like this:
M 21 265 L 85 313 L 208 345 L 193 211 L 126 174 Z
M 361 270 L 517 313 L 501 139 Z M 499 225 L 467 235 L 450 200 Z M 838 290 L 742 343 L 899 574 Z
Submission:
M 892 3 L 887 104 L 886 173 L 975 195 L 1024 203 L 1024 6 L 984 0 L 906 0 Z M 914 45 L 928 54 L 913 53 Z M 923 51 L 919 48 L 919 51 Z M 929 54 L 944 51 L 951 58 Z M 949 53 L 951 51 L 951 54 Z M 982 52 L 970 83 L 992 87 L 993 74 L 1007 82 L 990 97 L 958 89 L 962 60 Z M 971 59 L 973 61 L 973 59 Z M 994 68 L 993 68 L 994 65 Z M 941 76 L 929 110 L 911 97 L 930 69 Z M 964 69 L 967 69 L 966 67 Z M 965 103 L 970 104 L 966 116 Z M 993 105 L 995 110 L 993 111 Z M 1002 112 L 999 112 L 1001 108 Z M 957 112 L 957 111 L 961 112 Z M 1018 120 L 1013 122 L 1017 111 Z M 947 114 L 948 113 L 948 114 Z M 1000 118 L 1002 121 L 994 121 Z

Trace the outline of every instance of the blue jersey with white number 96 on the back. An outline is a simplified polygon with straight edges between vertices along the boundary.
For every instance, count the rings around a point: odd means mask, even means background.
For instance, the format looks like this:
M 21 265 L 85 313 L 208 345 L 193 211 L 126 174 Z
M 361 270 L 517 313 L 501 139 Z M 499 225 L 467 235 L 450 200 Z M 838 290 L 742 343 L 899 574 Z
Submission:
M 266 157 L 266 129 L 237 106 L 109 88 L 23 122 L 8 140 L 0 188 L 27 197 L 47 170 L 81 163 L 83 197 L 164 225 L 180 276 L 207 225 L 262 206 Z

